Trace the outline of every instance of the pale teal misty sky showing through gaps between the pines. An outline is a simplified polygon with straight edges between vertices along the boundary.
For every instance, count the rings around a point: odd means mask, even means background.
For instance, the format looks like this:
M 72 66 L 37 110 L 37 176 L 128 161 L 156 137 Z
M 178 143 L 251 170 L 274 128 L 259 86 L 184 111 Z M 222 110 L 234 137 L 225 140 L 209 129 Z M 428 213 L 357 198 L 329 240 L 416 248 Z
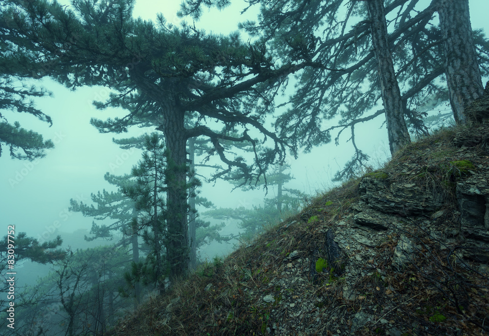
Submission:
M 59 1 L 62 4 L 68 1 Z M 425 1 L 422 1 L 425 2 Z M 159 7 L 157 3 L 160 3 Z M 178 24 L 176 16 L 180 1 L 138 0 L 134 16 L 155 20 L 156 12 L 162 12 L 169 22 Z M 237 22 L 253 19 L 258 8 L 255 6 L 239 16 L 245 2 L 232 0 L 233 5 L 220 12 L 204 9 L 203 17 L 196 23 L 198 28 L 216 33 L 237 30 Z M 489 32 L 487 13 L 488 0 L 469 0 L 472 28 L 484 28 Z M 190 18 L 186 19 L 191 22 Z M 484 79 L 484 84 L 488 79 Z M 17 112 L 3 112 L 10 123 L 19 121 L 21 126 L 32 129 L 52 139 L 55 149 L 43 159 L 34 162 L 11 159 L 8 150 L 0 157 L 0 213 L 2 227 L 15 224 L 16 231 L 26 231 L 29 236 L 38 237 L 46 228 L 59 223 L 61 231 L 71 232 L 79 228 L 90 229 L 92 219 L 79 213 L 69 213 L 67 208 L 71 198 L 89 201 L 90 193 L 111 189 L 103 179 L 106 172 L 116 175 L 130 173 L 131 167 L 140 159 L 140 151 L 124 151 L 111 141 L 112 137 L 128 137 L 152 130 L 134 128 L 127 134 L 100 134 L 89 124 L 91 117 L 106 119 L 124 116 L 124 110 L 107 109 L 98 111 L 91 106 L 93 100 L 104 100 L 108 89 L 102 87 L 82 88 L 70 91 L 49 79 L 36 82 L 53 92 L 53 97 L 36 99 L 36 106 L 53 119 L 53 126 L 31 115 Z M 385 127 L 378 129 L 383 118 L 378 117 L 367 125 L 356 126 L 357 145 L 374 161 L 382 162 L 389 152 Z M 349 131 L 340 138 L 341 146 L 334 143 L 315 148 L 310 154 L 298 160 L 289 159 L 292 174 L 296 180 L 289 187 L 314 194 L 332 185 L 331 178 L 353 155 Z M 334 135 L 333 135 L 334 136 Z M 6 149 L 6 148 L 5 148 Z M 258 205 L 263 192 L 243 192 L 219 181 L 215 186 L 204 185 L 201 195 L 218 207 L 238 207 Z M 273 196 L 273 190 L 269 190 Z M 2 234 L 3 235 L 3 234 Z M 54 238 L 54 236 L 50 237 Z M 82 238 L 81 238 L 82 239 Z

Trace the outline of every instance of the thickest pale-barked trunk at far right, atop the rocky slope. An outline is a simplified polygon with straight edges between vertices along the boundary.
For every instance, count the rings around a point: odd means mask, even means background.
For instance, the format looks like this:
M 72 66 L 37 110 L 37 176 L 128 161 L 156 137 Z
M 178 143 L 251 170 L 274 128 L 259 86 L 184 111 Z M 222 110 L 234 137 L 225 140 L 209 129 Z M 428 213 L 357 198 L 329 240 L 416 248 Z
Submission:
M 439 0 L 437 11 L 445 52 L 445 75 L 450 105 L 457 123 L 465 124 L 464 109 L 484 93 L 477 62 L 468 0 Z

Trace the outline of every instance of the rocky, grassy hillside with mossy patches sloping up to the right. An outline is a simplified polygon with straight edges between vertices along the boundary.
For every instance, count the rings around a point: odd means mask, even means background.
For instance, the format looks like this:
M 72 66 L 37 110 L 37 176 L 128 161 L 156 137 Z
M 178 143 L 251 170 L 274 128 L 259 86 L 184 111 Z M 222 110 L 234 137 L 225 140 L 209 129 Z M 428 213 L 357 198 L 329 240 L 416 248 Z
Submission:
M 422 139 L 110 335 L 489 335 L 488 181 L 488 124 Z

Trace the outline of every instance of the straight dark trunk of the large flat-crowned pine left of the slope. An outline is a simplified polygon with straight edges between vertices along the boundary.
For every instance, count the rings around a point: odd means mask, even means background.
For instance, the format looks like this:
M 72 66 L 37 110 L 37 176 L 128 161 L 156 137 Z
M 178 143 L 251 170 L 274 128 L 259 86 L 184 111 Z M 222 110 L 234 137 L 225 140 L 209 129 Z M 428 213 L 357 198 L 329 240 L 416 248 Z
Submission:
M 163 131 L 168 151 L 167 230 L 168 261 L 172 277 L 185 274 L 188 269 L 187 225 L 187 132 L 183 111 L 177 106 L 164 106 Z

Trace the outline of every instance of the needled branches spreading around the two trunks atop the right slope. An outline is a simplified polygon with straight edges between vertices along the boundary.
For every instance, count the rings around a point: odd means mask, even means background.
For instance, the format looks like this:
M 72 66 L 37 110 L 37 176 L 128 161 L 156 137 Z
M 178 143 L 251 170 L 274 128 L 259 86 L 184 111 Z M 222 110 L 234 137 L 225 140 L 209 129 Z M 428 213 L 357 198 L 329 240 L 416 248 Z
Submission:
M 242 27 L 248 33 L 267 40 L 277 59 L 287 62 L 291 57 L 301 55 L 303 59 L 311 59 L 324 65 L 324 67 L 305 68 L 298 74 L 296 90 L 290 96 L 289 103 L 283 104 L 288 107 L 288 110 L 279 116 L 276 123 L 282 130 L 281 136 L 289 136 L 298 145 L 310 150 L 312 146 L 331 141 L 333 130 L 339 131 L 334 139 L 338 144 L 343 131 L 350 129 L 350 140 L 355 149 L 355 156 L 347 163 L 345 169 L 336 175 L 338 179 L 348 179 L 364 166 L 365 160 L 368 159 L 356 144 L 355 125 L 382 114 L 389 114 L 387 108 L 373 110 L 380 98 L 385 103 L 385 94 L 381 94 L 382 83 L 377 76 L 376 55 L 381 49 L 378 49 L 378 45 L 373 48 L 375 42 L 371 30 L 373 11 L 370 11 L 369 15 L 367 10 L 367 6 L 384 1 L 252 0 L 248 2 L 250 6 L 260 4 L 261 14 L 258 22 L 244 22 Z M 193 15 L 194 18 L 199 18 L 200 7 L 203 5 L 219 7 L 224 3 L 213 0 L 205 2 L 188 0 L 182 3 L 181 15 Z M 460 15 L 457 10 L 454 10 L 455 5 L 460 6 Z M 449 9 L 450 6 L 453 9 Z M 420 107 L 425 106 L 429 100 L 438 101 L 438 104 L 448 100 L 446 88 L 439 83 L 440 77 L 444 74 L 447 78 L 450 77 L 451 70 L 443 66 L 445 59 L 451 59 L 449 61 L 451 64 L 465 65 L 470 62 L 467 64 L 467 81 L 461 83 L 459 87 L 464 88 L 466 92 L 471 92 L 469 95 L 475 97 L 477 90 L 480 90 L 480 80 L 476 75 L 477 63 L 483 74 L 487 75 L 489 44 L 480 31 L 473 34 L 474 39 L 470 36 L 467 1 L 432 1 L 425 8 L 419 7 L 419 1 L 385 1 L 385 14 L 389 15 L 390 34 L 388 45 L 384 44 L 383 53 L 385 55 L 388 51 L 392 53 L 395 77 L 402 88 L 401 103 L 406 123 L 413 133 L 424 135 L 428 132 L 423 123 L 426 113 L 420 110 Z M 342 8 L 346 8 L 344 15 L 340 10 Z M 443 16 L 443 11 L 448 11 L 457 17 L 446 20 L 445 26 L 441 20 L 440 25 L 437 26 L 433 22 L 436 11 L 439 12 L 440 17 Z M 451 21 L 458 23 L 451 24 Z M 443 36 L 455 35 L 458 35 L 456 39 L 463 40 L 463 43 L 452 43 L 455 39 L 449 43 L 455 48 L 460 46 L 460 50 L 458 52 L 444 50 L 442 45 L 448 42 L 448 39 Z M 475 44 L 477 48 L 475 53 L 472 53 Z M 469 79 L 472 74 L 468 72 L 475 75 L 473 77 L 475 80 Z M 394 79 L 392 73 L 390 78 Z M 396 85 L 393 87 L 395 88 Z M 459 97 L 457 99 L 462 98 L 461 94 L 462 92 L 457 94 Z M 397 102 L 395 110 L 400 111 L 399 95 L 397 93 L 395 95 L 397 96 L 394 99 Z M 390 98 L 387 100 L 388 103 L 391 101 Z M 455 103 L 452 99 L 453 104 Z M 340 120 L 337 124 L 330 125 L 325 122 L 338 116 Z M 389 124 L 392 118 L 386 115 L 386 120 Z M 398 121 L 402 123 L 400 118 Z M 387 128 L 390 145 L 393 145 L 392 141 L 398 138 L 403 139 L 403 143 L 408 141 L 404 131 L 401 132 L 400 137 L 391 136 L 393 130 L 389 130 L 389 125 Z M 404 127 L 401 126 L 399 129 Z

